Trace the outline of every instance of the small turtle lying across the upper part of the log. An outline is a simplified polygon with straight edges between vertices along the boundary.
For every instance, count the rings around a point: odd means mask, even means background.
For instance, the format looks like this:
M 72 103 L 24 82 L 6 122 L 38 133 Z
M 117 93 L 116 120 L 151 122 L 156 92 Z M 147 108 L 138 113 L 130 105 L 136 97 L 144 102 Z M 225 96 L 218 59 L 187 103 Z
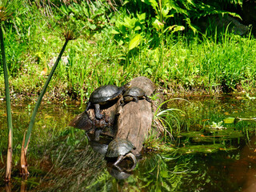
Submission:
M 147 97 L 144 90 L 138 88 L 137 86 L 130 87 L 122 95 L 121 106 L 124 106 L 126 102 L 138 102 L 138 99 L 145 98 L 146 101 L 151 102 L 151 99 Z

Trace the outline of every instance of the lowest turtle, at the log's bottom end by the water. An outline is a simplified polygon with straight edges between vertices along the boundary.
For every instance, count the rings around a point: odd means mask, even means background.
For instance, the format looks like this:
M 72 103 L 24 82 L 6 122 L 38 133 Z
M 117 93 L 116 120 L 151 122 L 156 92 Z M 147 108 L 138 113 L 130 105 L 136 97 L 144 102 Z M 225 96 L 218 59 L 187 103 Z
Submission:
M 106 150 L 106 158 L 118 158 L 116 162 L 114 162 L 114 166 L 117 166 L 119 162 L 121 162 L 124 158 L 131 158 L 134 161 L 134 167 L 136 166 L 137 159 L 134 154 L 130 151 L 136 149 L 133 143 L 128 139 L 124 138 L 114 138 L 110 143 Z

